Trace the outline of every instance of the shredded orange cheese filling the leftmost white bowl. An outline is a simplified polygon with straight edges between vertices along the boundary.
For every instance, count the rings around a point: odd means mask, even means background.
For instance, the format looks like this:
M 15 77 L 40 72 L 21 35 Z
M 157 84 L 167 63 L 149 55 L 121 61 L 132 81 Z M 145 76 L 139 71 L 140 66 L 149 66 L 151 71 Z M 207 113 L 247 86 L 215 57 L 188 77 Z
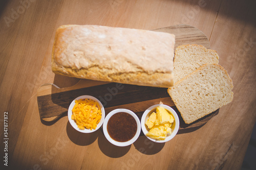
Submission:
M 71 118 L 75 120 L 79 129 L 96 129 L 101 119 L 101 109 L 97 102 L 91 99 L 80 99 L 75 101 Z

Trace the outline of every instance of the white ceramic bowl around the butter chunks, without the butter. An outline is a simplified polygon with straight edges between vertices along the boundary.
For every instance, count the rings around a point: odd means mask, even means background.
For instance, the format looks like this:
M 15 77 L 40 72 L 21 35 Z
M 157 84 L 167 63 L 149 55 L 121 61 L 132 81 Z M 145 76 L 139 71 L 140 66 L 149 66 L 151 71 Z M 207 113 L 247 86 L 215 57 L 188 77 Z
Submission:
M 146 134 L 147 132 L 149 131 L 148 128 L 146 127 L 145 125 L 145 122 L 147 121 L 148 117 L 150 116 L 150 114 L 156 110 L 157 107 L 159 106 L 162 106 L 163 108 L 165 108 L 166 110 L 168 110 L 170 113 L 172 113 L 172 115 L 174 116 L 174 123 L 171 127 L 172 129 L 172 134 L 168 134 L 165 138 L 165 140 L 156 140 L 156 139 L 153 139 L 153 138 L 150 138 L 148 137 Z M 142 132 L 144 133 L 144 135 L 154 141 L 154 142 L 157 142 L 157 143 L 163 143 L 163 142 L 166 142 L 166 141 L 169 141 L 170 139 L 174 138 L 174 136 L 177 134 L 178 130 L 179 130 L 179 126 L 180 126 L 180 120 L 179 120 L 179 117 L 177 115 L 177 113 L 174 111 L 174 109 L 172 109 L 171 107 L 167 106 L 167 105 L 163 105 L 163 104 L 158 104 L 158 105 L 154 105 L 154 106 L 151 106 L 150 108 L 146 109 L 145 112 L 143 113 L 142 117 L 141 117 L 141 129 L 142 129 Z

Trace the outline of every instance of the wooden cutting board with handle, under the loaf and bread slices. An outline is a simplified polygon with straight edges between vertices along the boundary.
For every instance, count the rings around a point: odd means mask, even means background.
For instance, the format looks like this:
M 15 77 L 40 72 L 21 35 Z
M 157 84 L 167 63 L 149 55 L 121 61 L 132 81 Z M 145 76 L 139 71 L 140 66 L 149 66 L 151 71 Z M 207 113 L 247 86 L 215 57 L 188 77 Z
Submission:
M 199 44 L 210 48 L 207 37 L 195 27 L 177 25 L 160 28 L 153 31 L 175 34 L 175 48 L 183 44 Z M 185 124 L 180 112 L 175 107 L 167 93 L 167 88 L 136 86 L 110 82 L 100 82 L 81 79 L 72 87 L 58 88 L 54 84 L 44 84 L 37 90 L 37 103 L 40 118 L 50 122 L 61 115 L 67 115 L 70 103 L 80 95 L 92 95 L 99 99 L 105 108 L 105 113 L 117 108 L 126 108 L 135 112 L 141 118 L 143 112 L 152 105 L 162 102 L 176 110 L 180 118 L 178 133 L 187 133 L 203 126 L 207 121 L 218 114 L 219 109 L 194 123 Z

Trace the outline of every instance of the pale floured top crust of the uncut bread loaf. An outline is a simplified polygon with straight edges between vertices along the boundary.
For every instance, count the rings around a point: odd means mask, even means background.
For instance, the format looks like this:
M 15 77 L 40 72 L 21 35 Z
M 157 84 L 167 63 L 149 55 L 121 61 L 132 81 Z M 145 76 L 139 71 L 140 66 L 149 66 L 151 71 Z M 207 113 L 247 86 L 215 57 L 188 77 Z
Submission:
M 101 67 L 118 72 L 172 73 L 175 35 L 92 25 L 61 26 L 53 59 L 72 69 Z

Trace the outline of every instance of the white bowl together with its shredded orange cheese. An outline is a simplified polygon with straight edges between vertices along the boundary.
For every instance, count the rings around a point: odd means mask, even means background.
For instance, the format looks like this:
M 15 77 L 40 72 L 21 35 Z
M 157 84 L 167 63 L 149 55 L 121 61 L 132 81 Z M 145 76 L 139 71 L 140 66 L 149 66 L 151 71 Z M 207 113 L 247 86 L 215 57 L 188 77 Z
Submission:
M 105 110 L 94 96 L 81 95 L 71 102 L 68 117 L 74 129 L 82 133 L 92 133 L 102 126 Z

